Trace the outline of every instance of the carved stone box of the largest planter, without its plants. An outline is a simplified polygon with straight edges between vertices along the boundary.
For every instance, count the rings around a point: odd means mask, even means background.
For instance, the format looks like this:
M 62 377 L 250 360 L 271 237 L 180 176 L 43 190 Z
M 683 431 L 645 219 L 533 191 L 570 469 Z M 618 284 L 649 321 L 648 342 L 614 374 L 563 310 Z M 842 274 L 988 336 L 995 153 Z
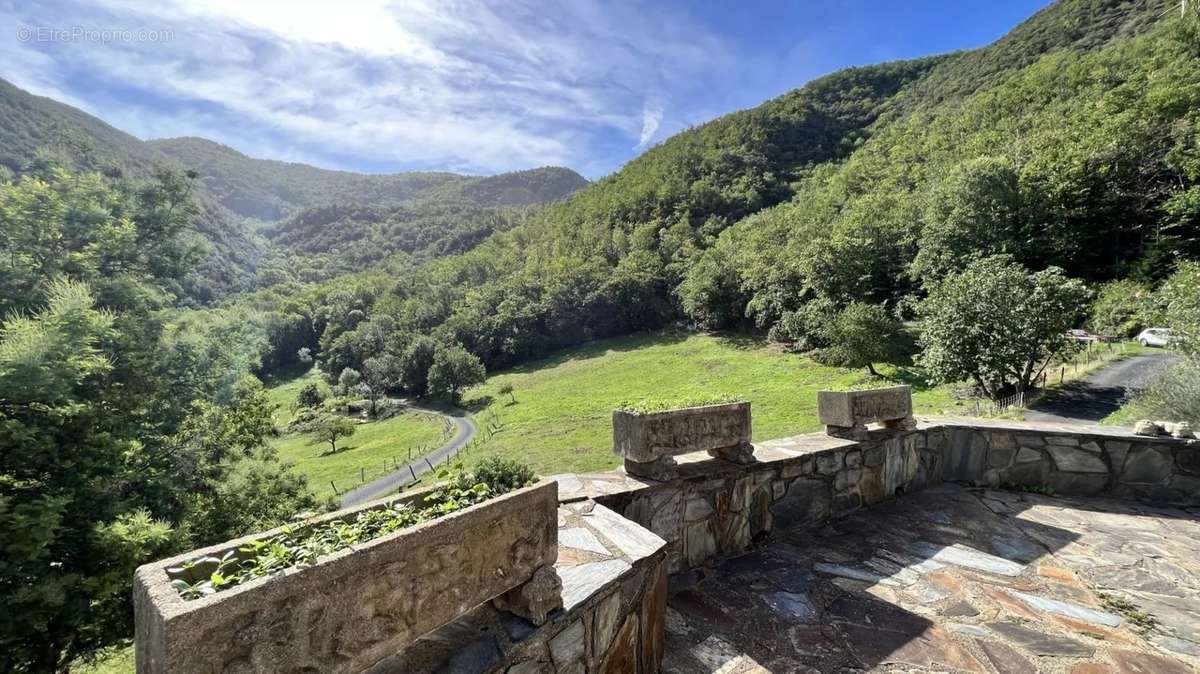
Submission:
M 428 491 L 307 525 L 420 501 Z M 544 481 L 197 600 L 178 594 L 168 568 L 280 530 L 142 566 L 133 588 L 137 672 L 356 673 L 493 598 L 545 620 L 562 606 L 557 508 L 558 486 Z

